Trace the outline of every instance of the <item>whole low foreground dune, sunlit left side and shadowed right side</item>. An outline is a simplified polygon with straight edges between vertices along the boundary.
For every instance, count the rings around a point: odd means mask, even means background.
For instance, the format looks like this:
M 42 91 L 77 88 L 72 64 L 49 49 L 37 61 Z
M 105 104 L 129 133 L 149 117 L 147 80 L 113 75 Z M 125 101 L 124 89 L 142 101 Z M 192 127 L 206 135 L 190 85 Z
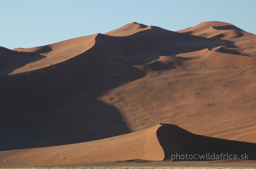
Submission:
M 173 124 L 159 124 L 138 132 L 79 144 L 0 152 L 0 167 L 75 165 L 86 162 L 143 159 L 170 160 L 171 155 L 228 153 L 256 159 L 256 144 L 211 138 Z M 199 161 L 210 161 L 208 159 Z

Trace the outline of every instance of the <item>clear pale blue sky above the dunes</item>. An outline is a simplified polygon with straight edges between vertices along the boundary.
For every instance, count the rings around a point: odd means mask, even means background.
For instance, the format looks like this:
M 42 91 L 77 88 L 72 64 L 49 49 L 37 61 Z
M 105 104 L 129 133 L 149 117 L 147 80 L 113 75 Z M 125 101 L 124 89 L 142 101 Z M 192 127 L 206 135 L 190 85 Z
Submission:
M 36 47 L 131 22 L 176 31 L 222 21 L 256 34 L 256 0 L 0 0 L 0 46 Z

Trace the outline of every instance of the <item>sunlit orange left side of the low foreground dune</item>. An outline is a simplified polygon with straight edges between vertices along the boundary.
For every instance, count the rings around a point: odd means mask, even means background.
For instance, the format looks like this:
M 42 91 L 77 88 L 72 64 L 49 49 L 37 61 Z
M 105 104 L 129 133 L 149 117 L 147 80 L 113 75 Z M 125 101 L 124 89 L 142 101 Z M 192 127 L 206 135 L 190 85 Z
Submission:
M 164 151 L 156 137 L 160 126 L 79 144 L 2 151 L 0 166 L 46 166 L 130 159 L 162 160 Z

